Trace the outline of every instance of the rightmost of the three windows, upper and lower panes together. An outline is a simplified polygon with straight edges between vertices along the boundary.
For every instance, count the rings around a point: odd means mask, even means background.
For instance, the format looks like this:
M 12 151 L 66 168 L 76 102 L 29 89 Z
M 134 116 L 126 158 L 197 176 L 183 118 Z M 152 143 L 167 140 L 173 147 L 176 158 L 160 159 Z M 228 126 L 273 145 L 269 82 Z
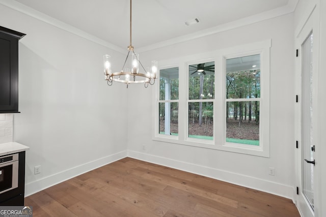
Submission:
M 226 59 L 226 142 L 259 145 L 260 54 Z

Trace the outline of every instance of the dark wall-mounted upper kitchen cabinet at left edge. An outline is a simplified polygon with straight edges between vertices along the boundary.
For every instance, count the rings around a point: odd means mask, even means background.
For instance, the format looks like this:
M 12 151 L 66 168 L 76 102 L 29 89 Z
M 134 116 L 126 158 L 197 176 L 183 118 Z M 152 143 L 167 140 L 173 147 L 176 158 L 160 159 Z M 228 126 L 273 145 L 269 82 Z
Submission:
M 0 26 L 0 113 L 18 112 L 18 41 L 24 36 Z

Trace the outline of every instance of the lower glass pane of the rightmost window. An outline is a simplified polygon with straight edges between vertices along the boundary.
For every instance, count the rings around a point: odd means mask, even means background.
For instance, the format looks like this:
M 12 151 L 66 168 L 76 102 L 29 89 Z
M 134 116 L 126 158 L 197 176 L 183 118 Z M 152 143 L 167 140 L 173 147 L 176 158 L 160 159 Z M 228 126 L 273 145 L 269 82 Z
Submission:
M 259 101 L 227 102 L 226 141 L 259 145 Z

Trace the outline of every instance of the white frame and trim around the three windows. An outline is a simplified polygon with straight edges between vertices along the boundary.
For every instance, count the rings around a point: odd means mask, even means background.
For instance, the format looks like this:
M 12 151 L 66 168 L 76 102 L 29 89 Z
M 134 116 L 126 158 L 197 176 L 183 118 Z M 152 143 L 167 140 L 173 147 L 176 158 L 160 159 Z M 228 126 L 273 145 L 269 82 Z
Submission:
M 179 67 L 179 100 L 178 102 L 178 136 L 164 135 L 158 133 L 158 104 L 159 104 L 159 84 L 153 94 L 153 133 L 152 140 L 175 143 L 180 145 L 190 145 L 209 149 L 230 151 L 236 153 L 250 154 L 254 156 L 269 158 L 269 95 L 270 95 L 270 47 L 271 39 L 259 41 L 234 47 L 224 48 L 211 52 L 199 53 L 188 56 L 181 56 L 175 59 L 160 60 L 159 71 Z M 260 54 L 260 98 L 251 98 L 250 101 L 259 99 L 260 106 L 260 126 L 259 126 L 259 146 L 226 142 L 226 59 Z M 188 137 L 188 66 L 196 63 L 206 63 L 214 61 L 215 64 L 215 87 L 213 102 L 213 140 L 196 139 Z M 159 78 L 158 74 L 158 78 Z M 154 85 L 155 86 L 155 85 Z M 236 99 L 237 101 L 247 101 L 247 99 Z M 197 100 L 195 100 L 197 101 Z M 208 100 L 211 101 L 211 100 Z M 185 112 L 181 112 L 185 111 Z

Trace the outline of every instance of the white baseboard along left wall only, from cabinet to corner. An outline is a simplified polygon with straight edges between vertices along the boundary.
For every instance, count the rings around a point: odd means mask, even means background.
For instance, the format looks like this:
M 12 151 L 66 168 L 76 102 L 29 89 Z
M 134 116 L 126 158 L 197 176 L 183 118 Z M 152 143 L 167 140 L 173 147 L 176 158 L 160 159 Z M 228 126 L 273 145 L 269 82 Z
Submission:
M 127 150 L 25 184 L 25 197 L 55 184 L 127 157 Z

